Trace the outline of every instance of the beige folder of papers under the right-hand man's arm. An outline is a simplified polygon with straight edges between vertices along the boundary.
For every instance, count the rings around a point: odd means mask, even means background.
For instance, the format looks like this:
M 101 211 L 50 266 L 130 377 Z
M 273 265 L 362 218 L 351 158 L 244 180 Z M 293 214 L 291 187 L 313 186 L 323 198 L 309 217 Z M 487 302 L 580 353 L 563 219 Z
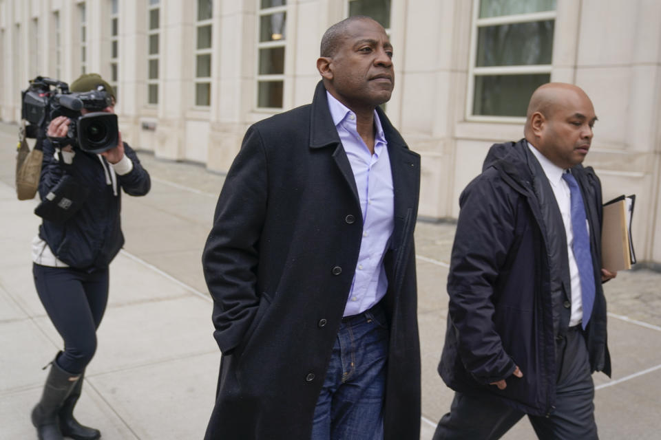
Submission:
M 631 242 L 631 217 L 636 196 L 620 196 L 604 205 L 601 228 L 602 267 L 610 272 L 631 269 L 636 254 Z

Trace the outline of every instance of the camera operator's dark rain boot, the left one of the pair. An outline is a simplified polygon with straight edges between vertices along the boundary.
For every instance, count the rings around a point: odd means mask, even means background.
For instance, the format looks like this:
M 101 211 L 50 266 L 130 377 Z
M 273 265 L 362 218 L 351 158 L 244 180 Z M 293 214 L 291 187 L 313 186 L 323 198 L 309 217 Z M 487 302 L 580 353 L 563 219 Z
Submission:
M 78 377 L 61 369 L 57 362 L 51 362 L 41 401 L 32 410 L 32 424 L 39 440 L 63 440 L 57 413 L 78 382 Z

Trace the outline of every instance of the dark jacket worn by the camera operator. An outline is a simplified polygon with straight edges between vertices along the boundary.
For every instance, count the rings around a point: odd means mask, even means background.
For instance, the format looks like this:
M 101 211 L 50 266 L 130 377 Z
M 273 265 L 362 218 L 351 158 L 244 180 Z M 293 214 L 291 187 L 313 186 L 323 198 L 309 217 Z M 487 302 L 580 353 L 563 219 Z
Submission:
M 52 143 L 45 140 L 39 181 L 41 199 L 60 181 L 64 173 L 72 175 L 78 184 L 90 188 L 90 195 L 81 209 L 65 223 L 58 225 L 43 220 L 39 236 L 48 243 L 57 259 L 70 267 L 88 271 L 103 269 L 124 245 L 120 225 L 120 189 L 129 195 L 147 194 L 151 187 L 149 174 L 140 165 L 135 151 L 124 143 L 124 153 L 133 162 L 133 169 L 126 175 L 116 175 L 115 195 L 112 184 L 107 183 L 110 165 L 105 158 L 102 158 L 102 164 L 100 156 L 76 149 L 73 164 L 63 166 L 54 157 L 54 152 Z

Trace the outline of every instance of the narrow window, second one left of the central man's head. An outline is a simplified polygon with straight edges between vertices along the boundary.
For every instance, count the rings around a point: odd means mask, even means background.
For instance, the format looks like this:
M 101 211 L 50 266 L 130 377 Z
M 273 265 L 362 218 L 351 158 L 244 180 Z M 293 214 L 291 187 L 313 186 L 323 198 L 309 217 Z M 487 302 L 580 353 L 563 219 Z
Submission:
M 211 105 L 211 30 L 213 1 L 198 0 L 195 45 L 195 104 Z

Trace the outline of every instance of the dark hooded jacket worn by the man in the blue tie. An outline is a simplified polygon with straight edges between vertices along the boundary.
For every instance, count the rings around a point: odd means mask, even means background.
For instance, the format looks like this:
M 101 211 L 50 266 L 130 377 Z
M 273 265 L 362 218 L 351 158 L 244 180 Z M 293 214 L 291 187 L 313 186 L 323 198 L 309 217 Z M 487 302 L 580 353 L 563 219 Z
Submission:
M 590 230 L 596 298 L 585 336 L 592 371 L 610 375 L 600 283 L 601 185 L 571 168 Z M 555 340 L 569 326 L 567 237 L 549 181 L 526 140 L 494 144 L 463 190 L 448 276 L 448 329 L 439 364 L 454 391 L 490 395 L 531 415 L 554 408 Z M 492 382 L 522 378 L 499 390 Z

